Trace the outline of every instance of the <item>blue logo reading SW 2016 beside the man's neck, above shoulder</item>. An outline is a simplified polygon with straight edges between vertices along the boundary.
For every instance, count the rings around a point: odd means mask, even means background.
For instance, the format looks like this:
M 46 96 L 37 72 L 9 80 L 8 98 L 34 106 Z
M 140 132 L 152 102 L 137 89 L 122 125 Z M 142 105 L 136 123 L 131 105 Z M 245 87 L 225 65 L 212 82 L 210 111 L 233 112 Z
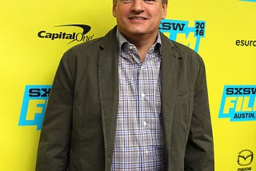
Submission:
M 198 52 L 200 40 L 205 37 L 206 22 L 195 21 L 194 26 L 190 27 L 188 21 L 163 19 L 159 30 L 171 40 Z

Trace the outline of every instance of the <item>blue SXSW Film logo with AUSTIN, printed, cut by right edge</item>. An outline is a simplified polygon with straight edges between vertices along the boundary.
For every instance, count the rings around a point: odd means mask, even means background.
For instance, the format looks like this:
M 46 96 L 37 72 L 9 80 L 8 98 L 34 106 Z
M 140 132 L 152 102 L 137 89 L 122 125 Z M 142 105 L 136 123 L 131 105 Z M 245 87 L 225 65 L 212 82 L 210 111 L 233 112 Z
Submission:
M 225 85 L 219 118 L 230 121 L 255 121 L 256 85 Z

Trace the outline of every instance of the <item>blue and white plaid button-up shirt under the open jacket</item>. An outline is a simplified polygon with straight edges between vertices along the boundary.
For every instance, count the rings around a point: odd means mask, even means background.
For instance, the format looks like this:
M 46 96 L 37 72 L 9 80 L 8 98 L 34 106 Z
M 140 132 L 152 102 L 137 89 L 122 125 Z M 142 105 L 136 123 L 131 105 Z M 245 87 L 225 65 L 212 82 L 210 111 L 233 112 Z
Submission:
M 145 62 L 119 31 L 117 39 L 119 103 L 112 170 L 165 170 L 160 35 Z

